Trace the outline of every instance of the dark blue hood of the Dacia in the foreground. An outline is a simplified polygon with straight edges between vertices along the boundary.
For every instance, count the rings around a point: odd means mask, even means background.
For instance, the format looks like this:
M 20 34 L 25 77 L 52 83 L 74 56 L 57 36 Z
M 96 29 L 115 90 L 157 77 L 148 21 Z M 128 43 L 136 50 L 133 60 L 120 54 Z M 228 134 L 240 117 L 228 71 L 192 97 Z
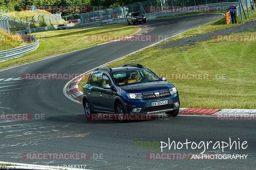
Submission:
M 169 90 L 174 87 L 171 83 L 165 81 L 157 81 L 157 82 L 148 82 L 148 83 L 139 83 L 133 85 L 125 85 L 120 88 L 126 92 L 133 93 L 146 93 L 146 92 L 156 92 L 162 90 Z

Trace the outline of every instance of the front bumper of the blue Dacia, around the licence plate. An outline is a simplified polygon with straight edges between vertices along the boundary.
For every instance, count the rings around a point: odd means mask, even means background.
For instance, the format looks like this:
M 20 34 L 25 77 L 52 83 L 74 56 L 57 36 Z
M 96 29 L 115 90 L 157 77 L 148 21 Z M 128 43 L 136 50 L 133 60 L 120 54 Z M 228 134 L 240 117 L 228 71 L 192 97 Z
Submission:
M 151 102 L 163 101 L 163 100 L 168 100 L 168 104 L 167 105 L 159 105 L 159 106 L 151 106 Z M 177 107 L 175 107 L 175 105 L 174 105 L 174 103 L 176 103 L 176 102 L 179 102 L 179 106 L 177 106 Z M 156 99 L 156 100 L 138 100 L 138 99 L 126 98 L 124 100 L 124 105 L 126 107 L 127 113 L 155 114 L 155 113 L 170 112 L 170 111 L 179 109 L 180 108 L 180 100 L 179 100 L 178 93 L 176 93 L 169 98 L 162 98 L 162 99 Z M 132 112 L 132 110 L 134 108 L 141 108 L 141 110 L 138 113 L 134 113 L 134 112 Z

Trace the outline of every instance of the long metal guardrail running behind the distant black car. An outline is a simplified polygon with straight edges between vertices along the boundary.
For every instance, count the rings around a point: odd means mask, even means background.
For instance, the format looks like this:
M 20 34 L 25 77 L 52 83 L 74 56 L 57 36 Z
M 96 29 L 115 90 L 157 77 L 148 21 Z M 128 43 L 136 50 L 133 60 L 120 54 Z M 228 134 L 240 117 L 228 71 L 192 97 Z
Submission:
M 185 8 L 175 9 L 175 10 L 147 13 L 147 14 L 144 14 L 144 16 L 146 16 L 147 19 L 153 19 L 153 18 L 167 17 L 167 16 L 172 16 L 172 15 L 191 13 L 193 11 L 204 12 L 204 11 L 220 10 L 220 9 L 227 9 L 227 11 L 228 11 L 228 7 L 231 4 L 235 4 L 236 6 L 238 6 L 238 2 L 207 4 L 207 5 L 199 5 L 199 6 L 193 6 L 193 7 L 185 7 Z M 75 28 L 103 26 L 103 25 L 123 23 L 123 22 L 127 22 L 126 17 L 96 21 L 96 22 L 91 22 L 91 23 L 86 23 L 86 24 L 77 24 L 77 25 L 75 25 Z

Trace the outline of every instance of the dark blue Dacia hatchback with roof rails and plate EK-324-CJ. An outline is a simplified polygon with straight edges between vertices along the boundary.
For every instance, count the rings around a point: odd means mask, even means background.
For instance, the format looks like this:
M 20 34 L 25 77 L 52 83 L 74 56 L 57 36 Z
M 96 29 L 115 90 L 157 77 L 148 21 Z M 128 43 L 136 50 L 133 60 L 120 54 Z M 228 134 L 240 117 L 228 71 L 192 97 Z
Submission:
M 83 106 L 87 118 L 92 113 L 155 114 L 177 116 L 179 94 L 165 77 L 159 78 L 140 64 L 117 68 L 97 68 L 83 87 Z

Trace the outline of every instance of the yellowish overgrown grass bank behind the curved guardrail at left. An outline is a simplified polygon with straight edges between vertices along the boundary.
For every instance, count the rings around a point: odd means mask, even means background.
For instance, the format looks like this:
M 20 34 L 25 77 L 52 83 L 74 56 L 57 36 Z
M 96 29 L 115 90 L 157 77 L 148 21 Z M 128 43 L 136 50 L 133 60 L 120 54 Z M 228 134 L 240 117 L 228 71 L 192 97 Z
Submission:
M 0 30 L 0 51 L 28 44 L 18 34 L 9 34 Z

